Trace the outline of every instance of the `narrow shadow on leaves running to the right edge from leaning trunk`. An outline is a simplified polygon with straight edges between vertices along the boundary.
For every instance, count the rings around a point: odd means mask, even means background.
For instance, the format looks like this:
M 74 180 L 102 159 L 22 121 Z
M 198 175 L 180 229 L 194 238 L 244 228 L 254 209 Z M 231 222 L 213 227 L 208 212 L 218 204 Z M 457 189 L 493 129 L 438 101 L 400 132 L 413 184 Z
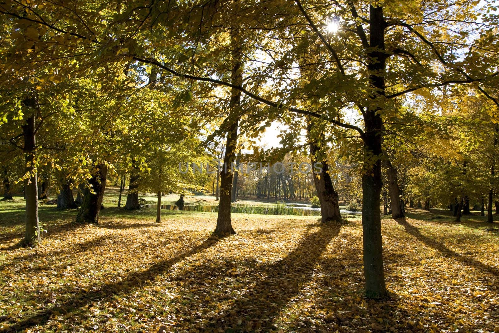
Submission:
M 429 247 L 439 251 L 440 253 L 442 253 L 442 255 L 444 257 L 459 260 L 462 263 L 464 263 L 470 267 L 480 268 L 481 270 L 488 272 L 489 274 L 492 274 L 492 275 L 499 277 L 499 270 L 497 268 L 491 267 L 491 266 L 486 265 L 486 264 L 484 264 L 476 259 L 473 259 L 473 258 L 467 257 L 465 255 L 462 255 L 460 253 L 457 253 L 456 251 L 453 251 L 453 250 L 447 248 L 445 245 L 424 236 L 423 234 L 421 234 L 421 232 L 419 231 L 418 228 L 409 224 L 409 222 L 406 221 L 405 217 L 400 218 L 400 219 L 396 219 L 395 221 L 397 221 L 398 224 L 403 226 L 405 228 L 405 230 L 410 235 L 415 237 L 418 241 L 425 243 Z

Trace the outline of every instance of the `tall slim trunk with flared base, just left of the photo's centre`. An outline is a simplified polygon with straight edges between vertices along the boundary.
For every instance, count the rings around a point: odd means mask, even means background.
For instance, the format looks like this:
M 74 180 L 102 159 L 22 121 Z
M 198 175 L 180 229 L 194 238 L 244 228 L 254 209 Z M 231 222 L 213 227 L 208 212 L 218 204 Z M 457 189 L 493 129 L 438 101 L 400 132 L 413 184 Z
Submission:
M 242 40 L 239 30 L 231 29 L 231 49 L 232 49 L 232 73 L 231 81 L 236 86 L 243 83 L 243 61 L 242 61 Z M 238 143 L 238 121 L 239 108 L 241 104 L 241 91 L 231 89 L 231 101 L 229 104 L 229 131 L 227 132 L 227 142 L 225 148 L 224 165 L 221 171 L 220 202 L 217 217 L 217 227 L 214 233 L 220 236 L 235 234 L 231 221 L 231 192 L 232 192 L 232 172 L 231 165 L 236 157 Z

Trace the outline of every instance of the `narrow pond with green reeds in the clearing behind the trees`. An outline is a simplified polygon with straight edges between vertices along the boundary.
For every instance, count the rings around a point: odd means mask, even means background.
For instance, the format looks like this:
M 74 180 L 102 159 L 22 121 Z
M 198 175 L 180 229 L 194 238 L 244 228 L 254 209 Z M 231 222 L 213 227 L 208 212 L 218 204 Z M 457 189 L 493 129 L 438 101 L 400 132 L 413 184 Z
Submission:
M 156 208 L 156 204 L 146 204 L 145 207 Z M 204 205 L 198 203 L 195 205 L 185 205 L 184 210 L 190 212 L 218 212 L 218 205 Z M 161 205 L 161 209 L 179 210 L 175 205 Z M 232 213 L 243 214 L 268 214 L 268 215 L 297 215 L 297 216 L 320 216 L 320 208 L 312 208 L 306 204 L 275 204 L 270 207 L 244 205 L 240 203 L 231 206 Z M 340 210 L 342 214 L 359 215 L 362 212 L 352 212 Z

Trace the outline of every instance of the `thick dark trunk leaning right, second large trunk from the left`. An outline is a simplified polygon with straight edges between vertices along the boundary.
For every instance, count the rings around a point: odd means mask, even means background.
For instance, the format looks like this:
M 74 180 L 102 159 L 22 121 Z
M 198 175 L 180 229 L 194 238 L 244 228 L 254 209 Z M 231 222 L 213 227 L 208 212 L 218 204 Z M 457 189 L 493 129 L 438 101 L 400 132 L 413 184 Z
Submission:
M 91 193 L 89 190 L 86 191 L 80 210 L 76 216 L 76 223 L 99 223 L 99 213 L 106 188 L 106 177 L 107 166 L 105 164 L 97 164 L 93 170 L 92 178 L 88 181 L 94 193 Z

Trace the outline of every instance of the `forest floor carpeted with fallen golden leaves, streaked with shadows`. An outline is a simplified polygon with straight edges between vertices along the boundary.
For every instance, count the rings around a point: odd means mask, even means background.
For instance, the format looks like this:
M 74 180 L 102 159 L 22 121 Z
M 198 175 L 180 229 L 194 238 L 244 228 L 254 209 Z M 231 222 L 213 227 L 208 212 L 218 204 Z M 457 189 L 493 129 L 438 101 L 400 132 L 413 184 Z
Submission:
M 0 202 L 0 332 L 499 332 L 499 228 L 445 211 L 384 218 L 390 299 L 363 297 L 359 219 L 76 211 L 40 206 L 19 248 L 23 200 Z M 433 219 L 436 216 L 442 218 Z

